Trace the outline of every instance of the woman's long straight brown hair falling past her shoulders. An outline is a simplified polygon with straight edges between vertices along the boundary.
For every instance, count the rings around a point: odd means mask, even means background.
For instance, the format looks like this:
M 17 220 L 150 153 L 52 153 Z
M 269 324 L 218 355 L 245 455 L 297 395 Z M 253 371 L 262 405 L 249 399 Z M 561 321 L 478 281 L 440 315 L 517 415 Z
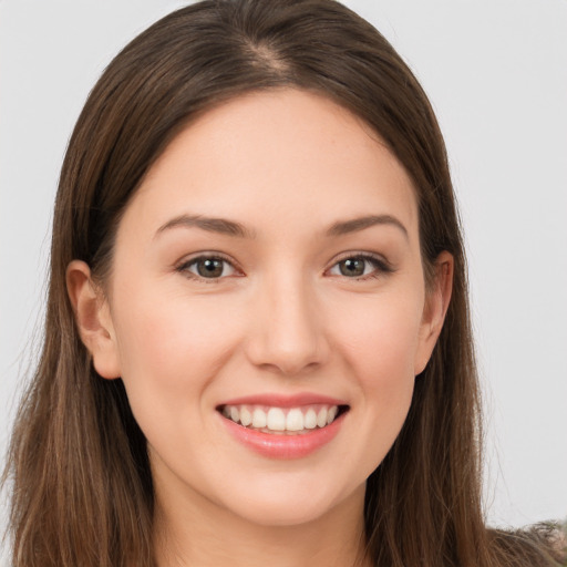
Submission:
M 150 567 L 145 439 L 121 380 L 102 380 L 65 288 L 73 259 L 104 282 L 121 215 L 198 114 L 249 91 L 315 91 L 368 123 L 412 177 L 426 275 L 453 255 L 453 297 L 408 420 L 368 480 L 368 553 L 384 566 L 553 565 L 537 538 L 487 530 L 466 267 L 443 138 L 388 41 L 333 0 L 205 0 L 134 39 L 91 92 L 61 172 L 45 342 L 12 437 L 14 567 Z

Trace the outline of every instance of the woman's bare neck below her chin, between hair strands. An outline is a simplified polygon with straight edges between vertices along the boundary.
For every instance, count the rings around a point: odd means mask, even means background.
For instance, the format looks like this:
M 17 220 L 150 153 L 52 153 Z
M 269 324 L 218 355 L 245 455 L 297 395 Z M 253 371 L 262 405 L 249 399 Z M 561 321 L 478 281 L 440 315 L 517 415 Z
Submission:
M 159 567 L 370 565 L 364 557 L 363 486 L 322 517 L 291 526 L 248 522 L 195 494 L 183 506 L 156 496 Z

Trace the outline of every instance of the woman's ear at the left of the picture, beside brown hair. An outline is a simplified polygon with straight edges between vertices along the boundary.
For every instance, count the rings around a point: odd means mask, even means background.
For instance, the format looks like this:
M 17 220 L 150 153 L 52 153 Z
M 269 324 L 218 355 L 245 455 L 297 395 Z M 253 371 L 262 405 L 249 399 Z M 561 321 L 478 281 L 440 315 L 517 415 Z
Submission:
M 96 372 L 106 379 L 121 375 L 116 336 L 109 307 L 100 286 L 91 278 L 91 269 L 81 260 L 66 268 L 66 289 L 81 340 L 93 358 Z

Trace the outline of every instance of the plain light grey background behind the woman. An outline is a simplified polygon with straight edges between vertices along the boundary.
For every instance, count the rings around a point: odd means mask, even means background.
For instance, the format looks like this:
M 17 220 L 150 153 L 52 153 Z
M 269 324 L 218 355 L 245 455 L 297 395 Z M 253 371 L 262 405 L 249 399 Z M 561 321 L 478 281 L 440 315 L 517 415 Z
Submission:
M 51 208 L 74 121 L 120 48 L 184 3 L 0 0 L 2 455 L 41 342 Z M 486 400 L 487 518 L 564 518 L 567 1 L 347 4 L 414 70 L 447 143 Z

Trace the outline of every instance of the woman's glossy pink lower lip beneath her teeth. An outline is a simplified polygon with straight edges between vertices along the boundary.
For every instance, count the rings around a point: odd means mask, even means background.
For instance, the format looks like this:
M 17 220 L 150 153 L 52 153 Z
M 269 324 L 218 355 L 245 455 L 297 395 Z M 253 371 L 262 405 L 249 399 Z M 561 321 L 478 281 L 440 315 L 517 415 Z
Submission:
M 238 425 L 223 415 L 220 415 L 220 419 L 237 441 L 262 456 L 301 458 L 330 443 L 339 433 L 344 415 L 339 415 L 330 425 L 296 435 L 262 433 Z

